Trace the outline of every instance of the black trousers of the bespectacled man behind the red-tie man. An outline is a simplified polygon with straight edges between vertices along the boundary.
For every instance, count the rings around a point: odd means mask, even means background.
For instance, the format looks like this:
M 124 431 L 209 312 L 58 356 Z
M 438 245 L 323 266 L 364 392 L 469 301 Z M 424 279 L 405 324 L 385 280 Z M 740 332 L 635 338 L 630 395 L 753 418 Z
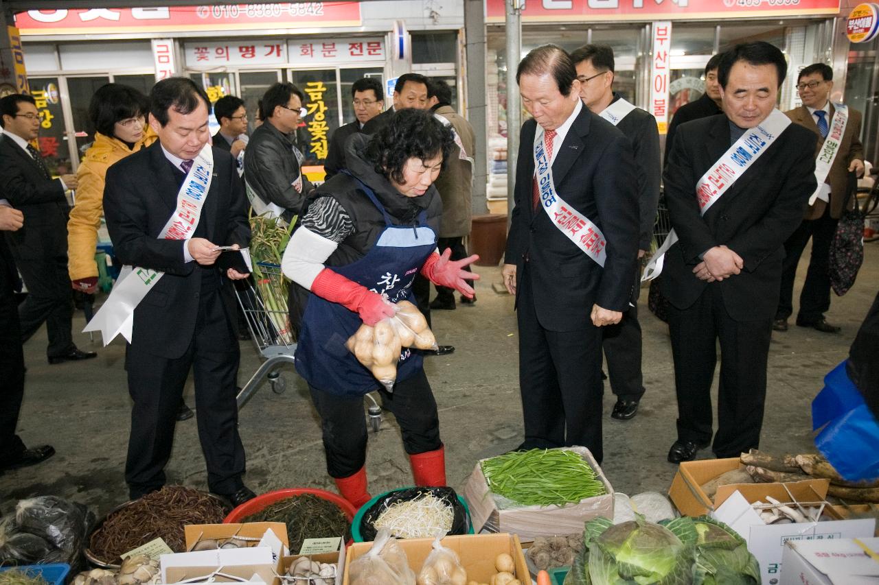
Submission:
M 636 267 L 628 311 L 616 325 L 601 328 L 601 347 L 607 361 L 607 379 L 610 389 L 620 400 L 638 401 L 644 394 L 641 369 L 642 337 L 638 322 L 638 296 L 641 292 L 641 263 Z

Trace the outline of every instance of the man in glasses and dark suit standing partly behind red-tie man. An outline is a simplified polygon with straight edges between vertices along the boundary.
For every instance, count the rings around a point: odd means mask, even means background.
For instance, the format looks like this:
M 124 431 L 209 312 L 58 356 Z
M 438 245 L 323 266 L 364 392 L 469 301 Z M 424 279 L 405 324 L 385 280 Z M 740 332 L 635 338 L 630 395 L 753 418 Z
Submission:
M 659 202 L 659 130 L 657 120 L 641 108 L 629 104 L 613 90 L 614 49 L 607 45 L 584 45 L 570 58 L 577 68 L 580 99 L 590 111 L 616 126 L 632 142 L 635 155 L 633 169 L 637 193 L 640 235 L 638 258 L 650 250 L 653 224 Z M 623 170 L 632 177 L 632 170 Z M 632 296 L 628 310 L 616 325 L 602 329 L 602 346 L 607 359 L 607 378 L 616 395 L 611 417 L 627 421 L 638 412 L 644 394 L 641 371 L 641 325 L 638 323 L 638 294 L 641 292 L 640 268 L 636 265 L 632 279 Z

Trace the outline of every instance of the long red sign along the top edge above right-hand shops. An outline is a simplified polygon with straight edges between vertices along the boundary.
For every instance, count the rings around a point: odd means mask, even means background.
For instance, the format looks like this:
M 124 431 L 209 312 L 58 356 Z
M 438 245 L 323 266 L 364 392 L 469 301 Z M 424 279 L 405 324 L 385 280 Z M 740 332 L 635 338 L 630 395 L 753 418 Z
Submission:
M 755 18 L 839 13 L 839 0 L 526 0 L 524 22 Z M 504 22 L 505 0 L 485 0 L 485 21 Z

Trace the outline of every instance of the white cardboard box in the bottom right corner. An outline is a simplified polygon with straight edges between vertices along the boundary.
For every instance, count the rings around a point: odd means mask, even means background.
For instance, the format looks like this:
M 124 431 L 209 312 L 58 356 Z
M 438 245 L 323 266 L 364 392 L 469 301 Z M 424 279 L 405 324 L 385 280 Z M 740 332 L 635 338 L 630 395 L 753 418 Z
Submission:
M 781 585 L 875 585 L 877 555 L 879 538 L 790 540 L 784 546 Z

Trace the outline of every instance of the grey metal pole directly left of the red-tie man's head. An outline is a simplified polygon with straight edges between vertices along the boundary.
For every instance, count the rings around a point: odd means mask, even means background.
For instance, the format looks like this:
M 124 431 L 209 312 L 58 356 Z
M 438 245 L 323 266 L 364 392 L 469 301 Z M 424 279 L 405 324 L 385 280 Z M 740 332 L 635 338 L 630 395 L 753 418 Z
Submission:
M 522 54 L 521 0 L 505 0 L 506 13 L 506 208 L 507 224 L 512 217 L 513 192 L 516 186 L 516 157 L 519 155 L 521 104 L 516 67 Z

